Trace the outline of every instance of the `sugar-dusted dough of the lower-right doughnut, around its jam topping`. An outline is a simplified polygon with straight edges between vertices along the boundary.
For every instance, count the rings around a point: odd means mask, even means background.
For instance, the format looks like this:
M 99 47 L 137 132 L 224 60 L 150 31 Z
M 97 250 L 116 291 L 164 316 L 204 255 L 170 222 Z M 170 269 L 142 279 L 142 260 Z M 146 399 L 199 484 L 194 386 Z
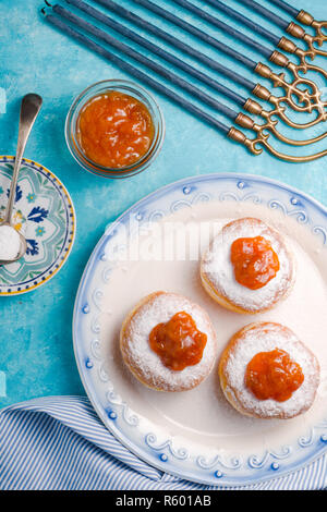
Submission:
M 246 386 L 246 369 L 258 353 L 276 349 L 300 365 L 303 381 L 286 401 L 261 400 Z M 237 332 L 219 361 L 219 377 L 227 400 L 242 414 L 259 418 L 291 418 L 307 411 L 319 383 L 315 355 L 289 328 L 274 322 L 254 322 Z

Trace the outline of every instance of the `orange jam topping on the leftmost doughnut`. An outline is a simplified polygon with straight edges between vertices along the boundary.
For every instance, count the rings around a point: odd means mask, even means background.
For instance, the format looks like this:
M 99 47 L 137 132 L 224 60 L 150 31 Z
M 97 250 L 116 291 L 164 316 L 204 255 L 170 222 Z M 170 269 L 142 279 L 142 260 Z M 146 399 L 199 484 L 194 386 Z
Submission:
M 182 370 L 201 362 L 207 334 L 197 330 L 192 316 L 177 313 L 166 324 L 158 324 L 149 334 L 149 345 L 167 368 Z

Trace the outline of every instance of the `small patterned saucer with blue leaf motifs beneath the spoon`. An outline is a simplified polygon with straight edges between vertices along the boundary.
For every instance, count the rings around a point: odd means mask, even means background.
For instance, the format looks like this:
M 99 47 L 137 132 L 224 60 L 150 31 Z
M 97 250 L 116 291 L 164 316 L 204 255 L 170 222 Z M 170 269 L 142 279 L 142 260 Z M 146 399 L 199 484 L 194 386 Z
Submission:
M 0 157 L 0 221 L 5 210 L 14 157 Z M 0 266 L 0 295 L 26 293 L 51 279 L 66 261 L 75 236 L 72 199 L 45 167 L 23 159 L 13 219 L 27 241 L 19 261 Z

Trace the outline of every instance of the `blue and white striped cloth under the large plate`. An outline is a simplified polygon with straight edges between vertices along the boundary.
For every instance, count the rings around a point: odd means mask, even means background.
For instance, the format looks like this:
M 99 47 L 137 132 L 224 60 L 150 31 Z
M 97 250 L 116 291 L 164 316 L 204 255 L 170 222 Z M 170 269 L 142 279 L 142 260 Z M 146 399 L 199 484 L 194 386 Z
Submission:
M 286 477 L 237 489 L 324 489 L 326 456 Z M 107 430 L 85 397 L 48 397 L 0 411 L 0 489 L 222 489 L 167 475 Z

